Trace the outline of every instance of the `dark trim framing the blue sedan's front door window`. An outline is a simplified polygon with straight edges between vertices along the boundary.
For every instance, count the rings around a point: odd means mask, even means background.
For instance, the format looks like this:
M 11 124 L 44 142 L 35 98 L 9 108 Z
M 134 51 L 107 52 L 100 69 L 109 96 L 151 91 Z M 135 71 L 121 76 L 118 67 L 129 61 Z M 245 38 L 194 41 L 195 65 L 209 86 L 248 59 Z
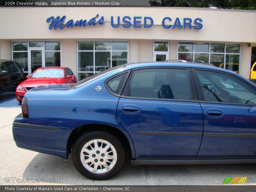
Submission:
M 230 73 L 225 73 L 225 72 L 222 72 L 222 71 L 215 71 L 215 70 L 211 70 L 211 69 L 192 68 L 192 73 L 193 73 L 193 76 L 194 76 L 194 79 L 195 79 L 195 84 L 196 84 L 196 90 L 197 90 L 197 94 L 198 94 L 199 103 L 221 104 L 221 105 L 256 106 L 256 104 L 255 105 L 250 105 L 250 104 L 243 104 L 243 103 L 227 103 L 227 102 L 217 102 L 217 101 L 205 101 L 204 100 L 204 94 L 203 94 L 202 88 L 200 86 L 200 81 L 199 81 L 199 78 L 196 74 L 196 70 L 198 70 L 198 71 L 210 71 L 210 72 L 222 73 L 222 74 L 225 74 L 225 75 L 229 75 L 229 76 L 232 76 L 232 77 L 244 82 L 245 84 L 250 86 L 255 91 L 256 91 L 256 88 L 253 87 L 253 85 L 246 82 L 244 79 L 238 78 L 237 76 L 235 76 L 233 74 L 230 74 Z

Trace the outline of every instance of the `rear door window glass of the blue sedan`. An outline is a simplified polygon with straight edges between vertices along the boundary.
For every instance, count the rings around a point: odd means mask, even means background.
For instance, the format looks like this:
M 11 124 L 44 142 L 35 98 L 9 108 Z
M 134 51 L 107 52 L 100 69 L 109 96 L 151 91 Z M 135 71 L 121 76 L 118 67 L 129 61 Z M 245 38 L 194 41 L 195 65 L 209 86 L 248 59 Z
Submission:
M 126 85 L 124 96 L 191 100 L 188 70 L 171 68 L 135 70 Z

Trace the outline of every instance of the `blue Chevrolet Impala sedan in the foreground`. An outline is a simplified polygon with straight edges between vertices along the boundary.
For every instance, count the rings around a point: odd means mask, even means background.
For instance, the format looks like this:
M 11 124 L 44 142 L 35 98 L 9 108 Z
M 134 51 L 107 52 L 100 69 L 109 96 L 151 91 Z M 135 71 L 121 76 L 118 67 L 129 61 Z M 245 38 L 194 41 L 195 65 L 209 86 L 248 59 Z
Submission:
M 132 165 L 256 163 L 256 85 L 210 64 L 125 64 L 36 87 L 21 108 L 16 145 L 72 153 L 93 180 L 115 176 L 126 154 Z

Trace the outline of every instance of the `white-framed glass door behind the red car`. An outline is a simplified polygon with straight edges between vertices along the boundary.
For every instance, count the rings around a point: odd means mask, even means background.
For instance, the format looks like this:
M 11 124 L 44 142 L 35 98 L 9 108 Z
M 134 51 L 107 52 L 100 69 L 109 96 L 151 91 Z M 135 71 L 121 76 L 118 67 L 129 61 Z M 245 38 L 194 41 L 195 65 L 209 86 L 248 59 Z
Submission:
M 44 48 L 30 48 L 28 54 L 28 74 L 31 75 L 37 68 L 45 66 Z

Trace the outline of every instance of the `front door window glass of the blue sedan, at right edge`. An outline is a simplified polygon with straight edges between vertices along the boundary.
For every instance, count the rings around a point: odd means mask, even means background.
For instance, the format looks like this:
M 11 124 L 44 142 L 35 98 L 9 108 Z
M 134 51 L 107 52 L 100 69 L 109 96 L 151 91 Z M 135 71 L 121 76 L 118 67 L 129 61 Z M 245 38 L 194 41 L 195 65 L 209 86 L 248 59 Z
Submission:
M 256 90 L 238 78 L 218 72 L 196 70 L 204 98 L 209 102 L 256 104 Z

